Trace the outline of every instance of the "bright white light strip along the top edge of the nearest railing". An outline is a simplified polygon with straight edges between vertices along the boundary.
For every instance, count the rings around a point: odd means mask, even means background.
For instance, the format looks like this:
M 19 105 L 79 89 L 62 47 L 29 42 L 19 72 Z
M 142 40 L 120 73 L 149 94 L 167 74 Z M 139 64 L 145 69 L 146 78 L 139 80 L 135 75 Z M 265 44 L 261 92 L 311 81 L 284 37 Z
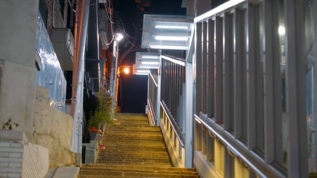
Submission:
M 196 17 L 196 18 L 194 18 L 194 22 L 195 23 L 199 22 L 199 21 L 201 21 L 201 20 L 203 20 L 205 18 L 208 18 L 208 17 L 210 17 L 210 16 L 212 16 L 214 14 L 217 14 L 219 12 L 222 12 L 225 9 L 230 8 L 232 6 L 235 6 L 235 5 L 237 5 L 237 4 L 241 3 L 241 2 L 244 2 L 244 1 L 248 2 L 247 0 L 229 0 L 229 1 L 219 5 L 218 7 L 216 7 L 214 9 L 212 9 L 212 10 L 210 10 L 210 11 L 208 11 L 208 12 L 206 12 L 206 13 L 204 13 L 204 14 Z

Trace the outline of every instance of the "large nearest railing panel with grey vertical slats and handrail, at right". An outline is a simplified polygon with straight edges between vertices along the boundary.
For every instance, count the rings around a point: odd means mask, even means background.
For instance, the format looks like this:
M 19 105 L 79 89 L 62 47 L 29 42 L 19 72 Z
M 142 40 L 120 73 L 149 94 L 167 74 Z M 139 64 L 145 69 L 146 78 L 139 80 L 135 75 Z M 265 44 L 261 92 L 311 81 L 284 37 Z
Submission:
M 195 150 L 214 149 L 208 131 L 257 176 L 307 175 L 303 3 L 229 0 L 194 19 Z

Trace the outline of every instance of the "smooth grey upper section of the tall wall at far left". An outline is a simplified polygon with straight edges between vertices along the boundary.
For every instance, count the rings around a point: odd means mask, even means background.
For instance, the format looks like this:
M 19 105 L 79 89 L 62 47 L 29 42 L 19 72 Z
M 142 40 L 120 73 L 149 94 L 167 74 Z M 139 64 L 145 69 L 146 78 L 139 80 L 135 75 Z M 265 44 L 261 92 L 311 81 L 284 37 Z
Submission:
M 0 59 L 33 68 L 39 0 L 0 0 L 0 4 Z

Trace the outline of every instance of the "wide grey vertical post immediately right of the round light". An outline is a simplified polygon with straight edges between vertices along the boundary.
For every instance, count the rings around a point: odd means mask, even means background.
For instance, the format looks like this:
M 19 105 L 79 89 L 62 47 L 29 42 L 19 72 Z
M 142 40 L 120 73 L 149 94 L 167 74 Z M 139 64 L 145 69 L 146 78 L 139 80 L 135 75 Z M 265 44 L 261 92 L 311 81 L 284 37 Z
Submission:
M 315 1 L 315 0 L 313 0 Z M 314 3 L 316 5 L 316 2 Z M 307 178 L 308 142 L 304 56 L 304 0 L 285 0 L 286 108 L 289 130 L 288 177 Z M 313 8 L 314 9 L 314 8 Z M 316 10 L 315 9 L 313 11 Z M 315 33 L 316 33 L 315 29 Z M 316 41 L 315 41 L 316 45 Z M 316 56 L 315 56 L 316 57 Z

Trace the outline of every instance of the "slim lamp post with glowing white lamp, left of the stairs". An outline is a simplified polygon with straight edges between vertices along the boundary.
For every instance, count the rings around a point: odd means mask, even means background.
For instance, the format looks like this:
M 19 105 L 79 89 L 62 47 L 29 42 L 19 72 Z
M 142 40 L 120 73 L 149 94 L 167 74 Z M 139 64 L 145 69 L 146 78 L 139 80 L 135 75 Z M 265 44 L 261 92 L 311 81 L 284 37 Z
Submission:
M 119 51 L 119 41 L 122 40 L 123 36 L 119 33 L 115 34 L 115 40 L 113 43 L 113 59 L 111 76 L 110 76 L 110 91 L 112 95 L 111 99 L 111 120 L 114 117 L 114 107 L 115 107 L 115 98 L 116 98 L 116 81 L 117 81 L 117 73 L 118 73 L 118 51 Z

